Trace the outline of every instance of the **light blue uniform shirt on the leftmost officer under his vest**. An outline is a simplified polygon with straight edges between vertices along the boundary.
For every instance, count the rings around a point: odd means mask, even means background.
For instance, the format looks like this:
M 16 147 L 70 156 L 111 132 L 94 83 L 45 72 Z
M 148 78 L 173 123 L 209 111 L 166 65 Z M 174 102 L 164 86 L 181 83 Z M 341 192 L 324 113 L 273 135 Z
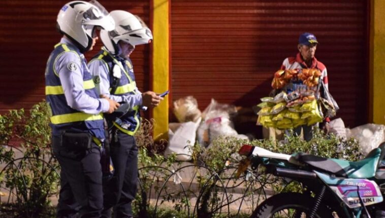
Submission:
M 61 38 L 60 43 L 75 46 L 71 41 Z M 76 47 L 76 46 L 75 46 Z M 82 54 L 80 58 L 84 58 Z M 99 114 L 109 110 L 109 103 L 106 99 L 93 98 L 84 92 L 83 88 L 83 65 L 78 54 L 75 52 L 64 52 L 57 57 L 54 69 L 59 75 L 67 103 L 75 110 L 86 114 Z M 68 68 L 69 62 L 74 62 L 77 67 Z

